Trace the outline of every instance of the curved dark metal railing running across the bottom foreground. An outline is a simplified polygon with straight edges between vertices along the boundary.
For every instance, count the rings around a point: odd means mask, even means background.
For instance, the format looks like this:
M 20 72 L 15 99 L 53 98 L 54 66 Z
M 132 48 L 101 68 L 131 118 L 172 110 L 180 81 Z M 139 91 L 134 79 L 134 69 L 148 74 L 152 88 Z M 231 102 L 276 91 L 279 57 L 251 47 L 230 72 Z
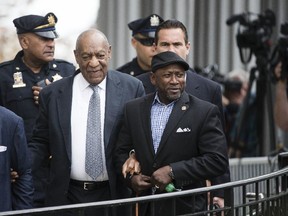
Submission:
M 236 188 L 241 189 L 242 202 L 235 204 L 233 198 L 229 197 L 229 193 L 225 193 L 225 200 L 229 200 L 229 205 L 222 209 L 205 210 L 203 212 L 191 213 L 186 215 L 220 215 L 222 211 L 227 216 L 285 216 L 288 214 L 288 189 L 287 189 L 288 168 L 275 171 L 270 174 L 229 182 L 226 184 L 198 188 L 180 192 L 172 192 L 159 195 L 151 195 L 145 197 L 119 199 L 111 201 L 83 203 L 75 205 L 35 208 L 29 210 L 2 212 L 1 216 L 7 215 L 62 215 L 66 210 L 74 211 L 83 215 L 83 211 L 87 208 L 105 208 L 107 215 L 109 209 L 120 206 L 133 206 L 136 203 L 150 203 L 153 204 L 159 200 L 172 199 L 176 200 L 178 197 L 196 196 L 199 194 L 207 194 L 215 190 L 223 189 L 225 191 L 233 190 Z M 265 189 L 263 190 L 263 185 Z M 272 186 L 271 186 L 272 185 Z M 248 189 L 249 188 L 249 189 Z M 234 194 L 235 196 L 235 194 Z M 153 205 L 151 205 L 153 206 Z M 176 215 L 176 214 L 175 214 Z M 158 216 L 158 215 L 157 215 Z

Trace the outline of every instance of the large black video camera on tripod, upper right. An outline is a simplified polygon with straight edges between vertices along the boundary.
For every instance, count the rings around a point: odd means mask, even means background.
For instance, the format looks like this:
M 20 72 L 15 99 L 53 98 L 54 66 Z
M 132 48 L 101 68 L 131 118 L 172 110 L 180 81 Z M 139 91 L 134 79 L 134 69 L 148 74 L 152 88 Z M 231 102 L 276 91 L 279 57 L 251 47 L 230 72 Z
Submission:
M 256 57 L 259 55 L 268 56 L 271 46 L 270 38 L 272 29 L 273 26 L 275 26 L 275 15 L 273 11 L 267 9 L 264 14 L 247 12 L 233 15 L 227 19 L 226 24 L 232 25 L 235 22 L 240 23 L 236 39 L 241 61 L 248 63 L 251 60 L 252 53 L 254 53 Z M 250 48 L 250 54 L 246 60 L 243 58 L 242 48 Z

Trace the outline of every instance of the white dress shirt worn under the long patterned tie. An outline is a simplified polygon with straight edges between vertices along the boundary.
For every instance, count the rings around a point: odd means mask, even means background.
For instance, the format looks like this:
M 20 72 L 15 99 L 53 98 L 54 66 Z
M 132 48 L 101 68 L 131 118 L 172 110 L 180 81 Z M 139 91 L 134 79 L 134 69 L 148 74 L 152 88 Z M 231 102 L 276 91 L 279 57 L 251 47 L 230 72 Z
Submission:
M 71 110 L 71 179 L 79 181 L 92 181 L 92 178 L 85 172 L 86 155 L 86 128 L 89 100 L 93 90 L 89 87 L 81 73 L 74 78 L 72 90 L 72 110 Z M 101 145 L 104 172 L 96 181 L 108 180 L 105 147 L 104 147 L 104 116 L 106 100 L 106 78 L 98 85 L 101 109 Z M 95 164 L 97 166 L 97 164 Z

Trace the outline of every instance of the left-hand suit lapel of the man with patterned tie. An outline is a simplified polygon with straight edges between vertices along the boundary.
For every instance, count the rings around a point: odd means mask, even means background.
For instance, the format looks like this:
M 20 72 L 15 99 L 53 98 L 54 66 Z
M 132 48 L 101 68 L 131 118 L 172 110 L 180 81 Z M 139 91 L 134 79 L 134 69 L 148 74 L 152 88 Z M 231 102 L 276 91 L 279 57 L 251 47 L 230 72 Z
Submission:
M 67 82 L 59 88 L 59 96 L 56 103 L 60 130 L 63 134 L 68 158 L 71 161 L 71 106 L 74 76 L 65 79 L 67 79 Z

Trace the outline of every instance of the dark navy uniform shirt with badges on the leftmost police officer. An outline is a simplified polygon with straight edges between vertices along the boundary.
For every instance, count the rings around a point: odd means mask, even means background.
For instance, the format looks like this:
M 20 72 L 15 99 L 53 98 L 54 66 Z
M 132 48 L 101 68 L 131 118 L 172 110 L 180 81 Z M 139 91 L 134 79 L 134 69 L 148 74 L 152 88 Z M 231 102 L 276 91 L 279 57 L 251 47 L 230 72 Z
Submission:
M 27 140 L 31 138 L 38 105 L 35 104 L 32 86 L 46 78 L 52 82 L 75 72 L 73 64 L 53 60 L 45 64 L 39 73 L 33 73 L 23 62 L 23 51 L 14 60 L 0 64 L 0 105 L 23 118 Z

